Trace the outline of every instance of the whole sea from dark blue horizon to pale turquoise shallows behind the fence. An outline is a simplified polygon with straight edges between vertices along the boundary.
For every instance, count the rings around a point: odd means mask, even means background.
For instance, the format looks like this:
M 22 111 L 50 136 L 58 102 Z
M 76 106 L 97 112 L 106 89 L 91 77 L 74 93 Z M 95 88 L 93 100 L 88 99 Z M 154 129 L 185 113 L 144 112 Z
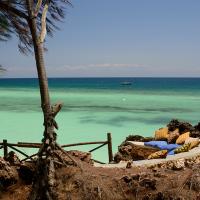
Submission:
M 200 78 L 51 78 L 49 86 L 52 103 L 64 103 L 60 144 L 102 141 L 111 132 L 116 152 L 129 134 L 151 136 L 172 118 L 200 121 Z M 37 79 L 0 79 L 0 141 L 40 142 L 42 120 Z M 107 161 L 107 148 L 93 157 Z

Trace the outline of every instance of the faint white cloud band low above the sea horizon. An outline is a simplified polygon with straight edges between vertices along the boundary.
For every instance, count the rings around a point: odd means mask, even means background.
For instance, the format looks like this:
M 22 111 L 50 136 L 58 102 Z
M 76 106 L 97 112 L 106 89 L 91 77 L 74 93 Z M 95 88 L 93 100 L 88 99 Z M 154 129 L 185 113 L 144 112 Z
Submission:
M 131 63 L 71 64 L 46 66 L 48 77 L 134 76 L 145 65 Z M 140 75 L 140 74 L 139 74 Z M 37 77 L 36 67 L 8 67 L 6 77 Z

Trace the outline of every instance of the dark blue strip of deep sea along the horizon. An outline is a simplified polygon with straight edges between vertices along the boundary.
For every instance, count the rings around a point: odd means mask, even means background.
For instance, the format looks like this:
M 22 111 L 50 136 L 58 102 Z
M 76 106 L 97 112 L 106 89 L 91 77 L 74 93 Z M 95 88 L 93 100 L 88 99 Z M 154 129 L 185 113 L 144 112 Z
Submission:
M 126 85 L 126 83 L 131 85 Z M 50 88 L 107 90 L 190 90 L 200 89 L 200 78 L 49 78 Z M 0 87 L 36 88 L 36 78 L 3 78 Z

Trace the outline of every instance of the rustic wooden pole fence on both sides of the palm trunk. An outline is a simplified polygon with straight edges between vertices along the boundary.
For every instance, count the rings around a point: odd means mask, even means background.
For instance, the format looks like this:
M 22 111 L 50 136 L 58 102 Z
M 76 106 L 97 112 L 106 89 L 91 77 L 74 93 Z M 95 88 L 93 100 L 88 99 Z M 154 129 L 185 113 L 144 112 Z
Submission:
M 80 146 L 80 145 L 92 145 L 92 144 L 100 144 L 100 145 L 91 149 L 89 151 L 90 153 L 92 153 L 93 151 L 96 151 L 97 149 L 102 148 L 105 145 L 108 145 L 108 160 L 109 160 L 109 162 L 113 161 L 111 133 L 107 133 L 107 140 L 106 141 L 65 144 L 65 145 L 62 145 L 62 147 L 65 148 L 65 147 Z M 42 145 L 42 143 L 30 143 L 30 142 L 18 142 L 17 144 L 14 144 L 14 143 L 8 143 L 7 140 L 3 140 L 3 142 L 0 142 L 0 149 L 3 149 L 4 157 L 8 156 L 8 148 L 10 148 L 10 149 L 22 154 L 25 157 L 22 161 L 25 161 L 25 160 L 28 160 L 28 159 L 33 160 L 33 157 L 36 156 L 37 153 L 29 156 L 26 153 L 24 153 L 22 150 L 20 150 L 19 148 L 40 148 L 41 145 Z M 101 162 L 101 161 L 98 161 L 98 160 L 94 160 L 94 161 L 103 164 L 103 162 Z

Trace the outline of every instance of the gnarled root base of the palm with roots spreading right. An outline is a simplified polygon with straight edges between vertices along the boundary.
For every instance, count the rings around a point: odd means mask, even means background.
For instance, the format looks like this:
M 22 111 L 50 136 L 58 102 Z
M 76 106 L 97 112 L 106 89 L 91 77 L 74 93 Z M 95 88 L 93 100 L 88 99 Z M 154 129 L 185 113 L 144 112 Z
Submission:
M 29 200 L 56 200 L 56 179 L 55 169 L 75 165 L 82 171 L 82 167 L 71 155 L 62 149 L 57 143 L 55 150 L 48 151 L 51 155 L 46 155 L 45 145 L 40 149 L 38 154 L 37 170 L 35 180 L 30 193 Z M 46 149 L 47 150 L 47 149 Z M 38 153 L 39 153 L 38 152 Z M 45 157 L 44 157 L 45 156 Z M 67 158 L 68 159 L 67 159 Z M 70 161 L 71 162 L 70 162 Z

